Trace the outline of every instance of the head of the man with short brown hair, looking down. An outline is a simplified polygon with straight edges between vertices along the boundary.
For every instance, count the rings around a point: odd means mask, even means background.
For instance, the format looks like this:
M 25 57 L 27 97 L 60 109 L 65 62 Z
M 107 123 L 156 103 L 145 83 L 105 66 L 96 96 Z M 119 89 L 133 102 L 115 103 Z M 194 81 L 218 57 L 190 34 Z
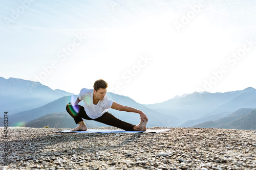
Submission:
M 93 85 L 95 97 L 98 100 L 102 100 L 106 94 L 106 88 L 108 88 L 108 83 L 106 83 L 104 80 L 99 79 L 96 80 L 96 82 Z

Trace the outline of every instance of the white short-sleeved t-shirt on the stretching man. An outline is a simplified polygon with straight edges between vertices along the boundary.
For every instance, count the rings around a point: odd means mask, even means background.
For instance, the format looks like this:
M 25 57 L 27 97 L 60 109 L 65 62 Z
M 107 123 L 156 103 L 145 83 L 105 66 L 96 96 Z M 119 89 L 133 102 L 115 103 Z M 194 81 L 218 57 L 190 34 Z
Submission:
M 93 89 L 87 88 L 81 89 L 78 99 L 83 100 L 84 110 L 92 119 L 102 116 L 102 114 L 109 111 L 113 104 L 113 101 L 106 95 L 104 96 L 103 100 L 98 102 L 97 105 L 93 104 Z

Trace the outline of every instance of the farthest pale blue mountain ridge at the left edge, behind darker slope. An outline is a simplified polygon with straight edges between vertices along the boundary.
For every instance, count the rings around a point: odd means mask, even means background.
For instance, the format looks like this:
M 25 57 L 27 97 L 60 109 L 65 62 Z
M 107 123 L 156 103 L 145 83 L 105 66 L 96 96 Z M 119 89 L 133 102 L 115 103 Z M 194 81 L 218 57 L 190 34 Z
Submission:
M 72 94 L 59 89 L 53 90 L 39 82 L 0 77 L 0 111 L 8 111 L 9 115 L 34 109 Z

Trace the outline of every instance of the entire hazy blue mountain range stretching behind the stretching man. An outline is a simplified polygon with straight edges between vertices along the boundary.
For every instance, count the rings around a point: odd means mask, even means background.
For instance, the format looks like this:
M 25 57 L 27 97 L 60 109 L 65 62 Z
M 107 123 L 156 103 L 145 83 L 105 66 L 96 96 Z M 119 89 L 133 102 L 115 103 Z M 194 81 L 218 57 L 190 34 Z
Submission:
M 15 78 L 0 77 L 0 85 L 2 102 L 0 110 L 2 112 L 8 110 L 9 126 L 76 127 L 73 118 L 66 111 L 66 105 L 75 101 L 77 95 L 59 89 L 53 90 L 39 82 Z M 253 119 L 253 109 L 256 108 L 255 94 L 256 90 L 252 87 L 225 93 L 194 92 L 176 96 L 162 103 L 141 105 L 127 96 L 107 93 L 113 101 L 145 112 L 148 116 L 148 127 L 208 126 L 227 128 L 234 127 L 231 126 L 232 121 L 238 121 L 237 123 L 241 126 L 237 125 L 236 127 L 240 128 L 245 127 L 242 126 L 247 122 L 245 119 Z M 80 105 L 83 103 L 81 102 Z M 241 108 L 243 109 L 240 110 Z M 114 109 L 110 109 L 109 112 L 132 124 L 138 124 L 140 121 L 140 117 L 136 113 Z M 88 127 L 105 126 L 92 120 L 85 121 Z M 2 122 L 0 126 L 2 126 Z M 248 128 L 253 129 L 253 125 Z

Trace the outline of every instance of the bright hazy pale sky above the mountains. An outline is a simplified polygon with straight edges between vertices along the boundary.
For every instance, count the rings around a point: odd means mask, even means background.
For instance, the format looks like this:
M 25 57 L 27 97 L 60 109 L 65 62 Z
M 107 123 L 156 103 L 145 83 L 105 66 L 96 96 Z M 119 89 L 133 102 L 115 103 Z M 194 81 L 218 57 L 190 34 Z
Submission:
M 256 2 L 4 1 L 0 77 L 153 104 L 194 91 L 256 88 Z

